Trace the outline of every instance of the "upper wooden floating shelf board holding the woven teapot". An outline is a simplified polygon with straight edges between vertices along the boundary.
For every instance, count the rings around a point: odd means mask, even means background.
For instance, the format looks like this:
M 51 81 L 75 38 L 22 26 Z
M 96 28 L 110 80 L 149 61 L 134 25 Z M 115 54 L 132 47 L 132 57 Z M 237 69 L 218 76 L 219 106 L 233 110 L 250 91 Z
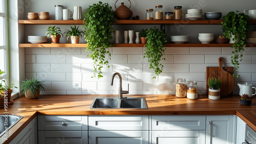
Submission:
M 224 20 L 115 20 L 114 25 L 221 25 Z M 22 25 L 83 25 L 83 20 L 18 20 Z M 250 20 L 256 25 L 256 20 Z

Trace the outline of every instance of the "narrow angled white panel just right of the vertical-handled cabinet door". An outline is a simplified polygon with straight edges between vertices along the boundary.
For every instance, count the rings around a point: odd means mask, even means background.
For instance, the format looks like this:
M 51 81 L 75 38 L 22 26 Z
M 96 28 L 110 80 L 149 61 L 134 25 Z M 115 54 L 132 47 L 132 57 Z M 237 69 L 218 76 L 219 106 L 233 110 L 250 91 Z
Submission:
M 237 116 L 237 144 L 245 142 L 245 128 L 246 123 Z

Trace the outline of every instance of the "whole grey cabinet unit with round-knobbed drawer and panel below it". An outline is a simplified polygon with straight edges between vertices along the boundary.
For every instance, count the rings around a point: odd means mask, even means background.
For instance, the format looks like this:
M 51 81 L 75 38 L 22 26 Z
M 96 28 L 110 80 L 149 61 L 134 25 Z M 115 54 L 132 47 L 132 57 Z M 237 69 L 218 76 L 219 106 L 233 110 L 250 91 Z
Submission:
M 87 115 L 38 115 L 38 143 L 88 143 Z

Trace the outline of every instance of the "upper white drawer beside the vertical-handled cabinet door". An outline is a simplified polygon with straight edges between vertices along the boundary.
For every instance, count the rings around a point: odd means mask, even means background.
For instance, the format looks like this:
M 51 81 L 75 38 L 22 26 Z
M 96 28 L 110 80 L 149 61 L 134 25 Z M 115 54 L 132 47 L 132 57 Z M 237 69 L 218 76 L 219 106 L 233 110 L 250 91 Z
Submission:
M 152 115 L 152 130 L 205 130 L 205 115 Z

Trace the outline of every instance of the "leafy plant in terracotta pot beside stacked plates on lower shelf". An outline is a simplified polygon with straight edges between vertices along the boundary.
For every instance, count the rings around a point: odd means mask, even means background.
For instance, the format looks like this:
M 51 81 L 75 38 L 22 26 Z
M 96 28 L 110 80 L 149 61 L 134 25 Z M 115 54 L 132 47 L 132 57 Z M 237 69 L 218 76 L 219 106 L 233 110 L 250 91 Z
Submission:
M 48 32 L 46 32 L 46 35 L 48 35 L 47 37 L 51 36 L 52 39 L 52 43 L 59 43 L 59 39 L 60 39 L 60 35 L 63 36 L 63 34 L 61 33 L 60 28 L 55 28 L 54 27 L 48 27 Z

